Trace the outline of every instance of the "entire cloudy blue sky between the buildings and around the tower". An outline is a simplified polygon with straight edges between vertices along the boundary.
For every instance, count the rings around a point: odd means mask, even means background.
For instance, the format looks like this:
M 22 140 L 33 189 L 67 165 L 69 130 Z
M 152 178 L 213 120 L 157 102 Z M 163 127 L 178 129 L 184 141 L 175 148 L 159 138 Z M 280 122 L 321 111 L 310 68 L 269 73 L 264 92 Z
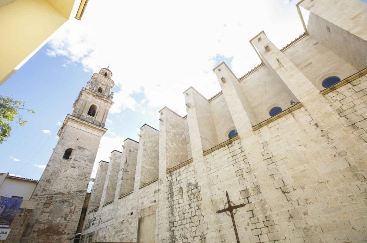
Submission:
M 38 180 L 57 132 L 81 88 L 109 66 L 113 101 L 96 162 L 139 140 L 145 123 L 159 129 L 167 106 L 185 115 L 182 94 L 193 86 L 210 98 L 220 91 L 212 69 L 222 61 L 237 77 L 260 63 L 249 40 L 265 31 L 282 48 L 304 30 L 295 1 L 89 1 L 0 86 L 0 95 L 27 102 L 36 114 L 12 126 L 0 144 L 0 172 Z M 96 163 L 95 163 L 96 165 Z M 97 167 L 94 166 L 92 177 Z

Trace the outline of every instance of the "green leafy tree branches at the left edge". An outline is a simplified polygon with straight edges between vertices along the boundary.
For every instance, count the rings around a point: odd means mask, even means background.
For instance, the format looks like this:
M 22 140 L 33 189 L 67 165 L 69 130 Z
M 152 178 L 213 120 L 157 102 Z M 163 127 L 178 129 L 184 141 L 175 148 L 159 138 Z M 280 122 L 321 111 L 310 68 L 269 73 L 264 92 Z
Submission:
M 10 136 L 12 121 L 17 118 L 15 122 L 19 126 L 24 126 L 28 121 L 24 121 L 22 115 L 19 113 L 21 110 L 26 110 L 31 114 L 34 114 L 34 110 L 25 108 L 25 102 L 14 100 L 11 96 L 4 97 L 0 95 L 0 144 L 6 141 L 6 138 Z

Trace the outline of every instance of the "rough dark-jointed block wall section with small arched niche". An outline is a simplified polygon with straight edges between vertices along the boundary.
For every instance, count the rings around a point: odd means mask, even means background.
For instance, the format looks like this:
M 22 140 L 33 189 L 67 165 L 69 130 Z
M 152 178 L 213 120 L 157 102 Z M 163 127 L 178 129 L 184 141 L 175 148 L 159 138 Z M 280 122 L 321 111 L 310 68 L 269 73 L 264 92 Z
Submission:
M 159 228 L 159 233 L 166 238 L 159 238 L 157 242 L 205 242 L 206 232 L 201 228 L 204 217 L 201 212 L 201 188 L 197 182 L 195 169 L 197 162 L 189 163 L 171 173 L 168 173 L 166 194 L 160 196 L 167 207 L 162 210 L 168 217 L 168 228 Z

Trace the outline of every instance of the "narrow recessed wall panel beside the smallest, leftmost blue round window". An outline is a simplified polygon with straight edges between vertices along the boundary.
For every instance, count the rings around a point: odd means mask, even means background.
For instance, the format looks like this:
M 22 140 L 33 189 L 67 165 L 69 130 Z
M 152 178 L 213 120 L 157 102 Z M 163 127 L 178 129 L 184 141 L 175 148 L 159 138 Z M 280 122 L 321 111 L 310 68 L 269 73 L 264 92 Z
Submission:
M 215 99 L 212 99 L 210 101 L 210 109 L 213 116 L 219 144 L 228 140 L 228 133 L 232 129 L 236 129 L 235 124 L 233 123 L 226 100 L 223 95 L 219 95 L 215 97 Z

